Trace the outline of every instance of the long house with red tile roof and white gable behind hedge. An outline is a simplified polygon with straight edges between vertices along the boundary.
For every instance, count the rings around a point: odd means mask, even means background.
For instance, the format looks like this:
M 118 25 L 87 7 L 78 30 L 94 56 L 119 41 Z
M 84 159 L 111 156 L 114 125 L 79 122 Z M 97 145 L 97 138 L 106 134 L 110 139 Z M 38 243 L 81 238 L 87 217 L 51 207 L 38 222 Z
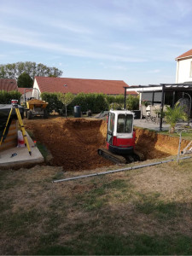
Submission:
M 49 78 L 35 77 L 33 88 L 43 92 L 71 92 L 75 95 L 84 93 L 103 93 L 108 95 L 124 94 L 124 87 L 127 87 L 122 80 L 101 80 L 101 79 L 68 79 L 68 78 Z M 137 96 L 137 92 L 130 94 Z M 37 96 L 37 90 L 34 90 L 33 96 Z

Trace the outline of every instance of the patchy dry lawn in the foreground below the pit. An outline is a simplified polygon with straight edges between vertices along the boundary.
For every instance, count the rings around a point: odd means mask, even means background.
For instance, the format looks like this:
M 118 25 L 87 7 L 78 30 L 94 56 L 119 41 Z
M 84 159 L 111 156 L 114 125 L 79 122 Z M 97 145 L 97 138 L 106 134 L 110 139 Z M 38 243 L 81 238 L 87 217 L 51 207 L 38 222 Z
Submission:
M 108 169 L 0 171 L 0 254 L 191 255 L 192 159 L 52 183 Z

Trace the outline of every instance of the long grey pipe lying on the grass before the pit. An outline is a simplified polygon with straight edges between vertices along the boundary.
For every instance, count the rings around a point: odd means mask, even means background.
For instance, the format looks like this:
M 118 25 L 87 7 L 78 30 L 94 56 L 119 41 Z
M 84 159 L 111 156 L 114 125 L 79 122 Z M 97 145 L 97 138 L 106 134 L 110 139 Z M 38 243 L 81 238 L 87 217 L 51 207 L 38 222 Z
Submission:
M 180 158 L 179 160 L 185 160 L 185 159 L 189 159 L 191 157 L 192 156 L 185 156 L 185 157 Z M 84 178 L 84 177 L 100 176 L 100 175 L 105 175 L 105 174 L 114 173 L 114 172 L 125 172 L 125 171 L 135 170 L 135 169 L 139 169 L 139 168 L 143 168 L 143 167 L 148 167 L 148 166 L 157 166 L 157 165 L 160 165 L 160 164 L 165 164 L 165 163 L 168 163 L 168 162 L 172 162 L 174 160 L 175 159 L 163 160 L 163 161 L 160 161 L 160 162 L 154 162 L 154 163 L 150 163 L 150 164 L 142 165 L 142 166 L 132 166 L 132 167 L 118 169 L 118 170 L 113 170 L 113 171 L 108 171 L 108 172 L 97 172 L 97 173 L 92 173 L 92 174 L 87 174 L 87 175 L 76 176 L 76 177 L 67 177 L 67 178 L 63 178 L 63 179 L 54 180 L 52 183 L 61 183 L 61 182 L 65 182 L 65 181 L 69 181 L 69 180 L 73 180 L 73 179 L 79 179 L 79 178 Z

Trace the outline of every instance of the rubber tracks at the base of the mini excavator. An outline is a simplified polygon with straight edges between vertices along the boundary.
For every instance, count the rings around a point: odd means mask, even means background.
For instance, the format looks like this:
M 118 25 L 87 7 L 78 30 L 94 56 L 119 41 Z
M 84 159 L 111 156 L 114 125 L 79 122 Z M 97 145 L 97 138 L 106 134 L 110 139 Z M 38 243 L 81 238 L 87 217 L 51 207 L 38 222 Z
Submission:
M 99 148 L 97 152 L 103 158 L 111 160 L 115 164 L 129 164 L 132 162 L 144 160 L 143 154 L 140 154 L 137 152 L 134 152 L 133 154 L 129 154 L 129 155 L 124 155 L 124 156 L 119 154 L 113 154 L 107 148 Z

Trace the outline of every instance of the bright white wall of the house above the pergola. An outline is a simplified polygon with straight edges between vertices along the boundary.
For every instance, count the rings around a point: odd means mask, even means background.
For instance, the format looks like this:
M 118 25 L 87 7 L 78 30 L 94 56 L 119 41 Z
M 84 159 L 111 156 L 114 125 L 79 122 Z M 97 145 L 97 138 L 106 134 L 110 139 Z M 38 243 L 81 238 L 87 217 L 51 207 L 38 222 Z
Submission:
M 192 81 L 192 58 L 177 61 L 176 83 Z

